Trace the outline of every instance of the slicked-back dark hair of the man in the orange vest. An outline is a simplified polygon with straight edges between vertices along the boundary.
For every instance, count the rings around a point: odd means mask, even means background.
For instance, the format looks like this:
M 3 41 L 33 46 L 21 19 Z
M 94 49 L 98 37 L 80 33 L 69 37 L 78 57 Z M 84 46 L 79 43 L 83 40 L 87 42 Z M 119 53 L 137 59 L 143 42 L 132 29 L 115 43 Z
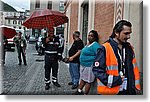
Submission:
M 112 35 L 110 36 L 111 38 L 114 38 L 116 36 L 115 33 L 119 33 L 123 30 L 123 26 L 128 26 L 132 27 L 132 24 L 129 21 L 126 20 L 120 20 L 119 22 L 116 23 L 116 25 L 113 28 Z

